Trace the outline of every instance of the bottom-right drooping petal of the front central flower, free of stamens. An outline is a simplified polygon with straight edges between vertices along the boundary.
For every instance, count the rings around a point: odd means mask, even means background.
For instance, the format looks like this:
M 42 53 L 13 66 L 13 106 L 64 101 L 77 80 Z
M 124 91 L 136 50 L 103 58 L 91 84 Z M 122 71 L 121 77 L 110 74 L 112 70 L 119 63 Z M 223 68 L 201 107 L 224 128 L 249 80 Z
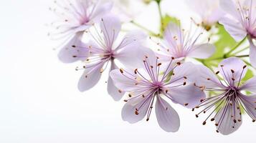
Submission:
M 159 126 L 166 132 L 179 130 L 179 114 L 161 97 L 158 97 L 156 101 L 156 118 Z

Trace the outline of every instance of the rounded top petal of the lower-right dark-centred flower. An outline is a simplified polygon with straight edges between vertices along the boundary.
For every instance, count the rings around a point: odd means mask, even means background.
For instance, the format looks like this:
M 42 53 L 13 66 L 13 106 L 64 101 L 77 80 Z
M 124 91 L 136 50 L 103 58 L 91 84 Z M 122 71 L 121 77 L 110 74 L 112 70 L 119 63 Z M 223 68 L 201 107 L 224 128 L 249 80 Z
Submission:
M 232 71 L 234 71 L 234 73 L 232 73 Z M 219 72 L 222 74 L 222 77 L 229 82 L 229 84 L 232 84 L 232 78 L 234 78 L 234 82 L 239 82 L 240 79 L 245 77 L 247 66 L 241 59 L 231 57 L 220 62 Z

